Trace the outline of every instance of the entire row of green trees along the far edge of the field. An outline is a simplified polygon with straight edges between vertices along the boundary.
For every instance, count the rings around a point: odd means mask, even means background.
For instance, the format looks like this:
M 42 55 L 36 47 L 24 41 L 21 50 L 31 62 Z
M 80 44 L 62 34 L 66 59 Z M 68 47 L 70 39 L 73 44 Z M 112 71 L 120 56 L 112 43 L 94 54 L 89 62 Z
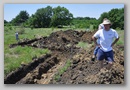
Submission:
M 50 28 L 74 26 L 75 28 L 97 29 L 102 23 L 103 18 L 108 18 L 112 22 L 112 28 L 124 30 L 124 8 L 111 9 L 109 12 L 103 12 L 98 19 L 90 17 L 73 17 L 73 14 L 65 7 L 57 6 L 52 8 L 47 6 L 38 9 L 29 16 L 27 11 L 20 13 L 11 21 L 4 20 L 4 25 L 13 25 L 31 28 Z

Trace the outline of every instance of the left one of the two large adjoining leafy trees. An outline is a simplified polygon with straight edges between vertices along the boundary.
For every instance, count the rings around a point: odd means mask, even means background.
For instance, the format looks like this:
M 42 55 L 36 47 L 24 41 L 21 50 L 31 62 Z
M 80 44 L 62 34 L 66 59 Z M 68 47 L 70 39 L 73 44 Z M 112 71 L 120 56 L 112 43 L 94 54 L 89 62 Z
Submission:
M 29 19 L 30 26 L 35 28 L 50 27 L 52 7 L 40 8 Z

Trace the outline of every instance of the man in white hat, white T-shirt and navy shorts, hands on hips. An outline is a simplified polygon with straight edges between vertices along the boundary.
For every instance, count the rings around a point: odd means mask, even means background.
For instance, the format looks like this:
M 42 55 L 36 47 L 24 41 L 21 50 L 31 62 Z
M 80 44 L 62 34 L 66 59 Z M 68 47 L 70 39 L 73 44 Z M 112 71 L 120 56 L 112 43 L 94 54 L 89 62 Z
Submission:
M 103 21 L 104 29 L 98 30 L 93 36 L 92 39 L 97 45 L 96 40 L 100 38 L 98 46 L 100 49 L 97 53 L 97 60 L 101 62 L 101 68 L 103 68 L 103 60 L 105 59 L 108 62 L 107 69 L 109 70 L 113 65 L 113 48 L 112 46 L 119 40 L 119 35 L 116 30 L 111 29 L 110 20 Z M 114 39 L 115 38 L 115 39 Z

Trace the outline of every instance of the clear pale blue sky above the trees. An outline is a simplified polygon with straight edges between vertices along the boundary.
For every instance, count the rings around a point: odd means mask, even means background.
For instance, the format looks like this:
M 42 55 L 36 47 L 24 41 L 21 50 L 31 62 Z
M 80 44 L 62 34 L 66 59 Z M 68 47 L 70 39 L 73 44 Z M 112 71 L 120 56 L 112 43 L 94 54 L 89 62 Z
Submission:
M 123 8 L 124 4 L 4 4 L 4 20 L 11 21 L 20 11 L 26 10 L 31 16 L 37 9 L 51 6 L 67 8 L 74 17 L 91 17 L 98 19 L 103 12 L 114 8 Z

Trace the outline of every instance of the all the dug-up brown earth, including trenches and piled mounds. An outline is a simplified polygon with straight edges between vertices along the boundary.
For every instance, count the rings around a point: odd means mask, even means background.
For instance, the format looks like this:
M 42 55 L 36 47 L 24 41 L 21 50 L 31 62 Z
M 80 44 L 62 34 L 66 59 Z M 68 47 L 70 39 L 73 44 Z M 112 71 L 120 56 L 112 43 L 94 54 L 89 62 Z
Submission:
M 11 44 L 16 46 L 30 46 L 34 48 L 48 48 L 50 54 L 32 57 L 29 64 L 21 64 L 17 70 L 9 73 L 5 84 L 124 84 L 124 46 L 115 45 L 114 65 L 110 70 L 100 70 L 100 64 L 91 61 L 94 50 L 91 37 L 95 32 L 86 31 L 58 31 L 48 37 L 34 38 Z M 88 43 L 86 49 L 77 46 L 78 42 Z M 70 65 L 62 74 L 60 71 Z M 107 65 L 104 62 L 104 66 Z M 59 75 L 59 77 L 58 77 Z M 56 78 L 58 77 L 58 78 Z

